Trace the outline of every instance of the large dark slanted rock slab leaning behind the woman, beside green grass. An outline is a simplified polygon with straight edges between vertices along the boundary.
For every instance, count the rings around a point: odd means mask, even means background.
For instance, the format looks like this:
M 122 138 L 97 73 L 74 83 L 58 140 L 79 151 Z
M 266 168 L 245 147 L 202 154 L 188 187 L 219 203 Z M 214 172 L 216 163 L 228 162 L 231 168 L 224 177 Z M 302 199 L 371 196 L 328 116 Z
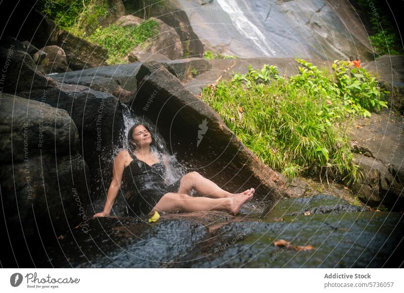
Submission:
M 138 115 L 155 122 L 170 151 L 178 152 L 177 158 L 183 164 L 232 192 L 254 187 L 257 197 L 272 201 L 283 195 L 283 182 L 277 174 L 164 66 L 144 62 L 136 78 L 138 89 L 130 105 Z

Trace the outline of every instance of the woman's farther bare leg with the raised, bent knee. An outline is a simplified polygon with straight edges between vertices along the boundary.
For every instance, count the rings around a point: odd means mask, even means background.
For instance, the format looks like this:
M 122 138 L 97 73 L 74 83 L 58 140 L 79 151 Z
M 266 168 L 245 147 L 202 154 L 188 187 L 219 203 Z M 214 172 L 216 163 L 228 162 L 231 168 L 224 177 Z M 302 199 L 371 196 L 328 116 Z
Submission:
M 203 177 L 198 172 L 189 172 L 181 178 L 178 193 L 189 194 L 192 189 L 196 190 L 201 195 L 210 196 L 213 198 L 225 198 L 237 195 L 249 195 L 254 194 L 255 192 L 254 188 L 247 189 L 246 191 L 237 194 L 227 192 L 221 189 L 216 183 Z

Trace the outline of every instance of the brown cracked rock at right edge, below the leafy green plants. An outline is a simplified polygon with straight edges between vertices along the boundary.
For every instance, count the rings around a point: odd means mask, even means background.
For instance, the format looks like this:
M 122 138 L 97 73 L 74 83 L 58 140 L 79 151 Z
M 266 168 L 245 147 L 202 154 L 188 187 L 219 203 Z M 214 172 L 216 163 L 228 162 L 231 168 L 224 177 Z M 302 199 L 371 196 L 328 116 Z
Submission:
M 404 208 L 403 129 L 403 117 L 387 109 L 357 120 L 350 128 L 355 160 L 364 174 L 353 191 L 368 205 Z

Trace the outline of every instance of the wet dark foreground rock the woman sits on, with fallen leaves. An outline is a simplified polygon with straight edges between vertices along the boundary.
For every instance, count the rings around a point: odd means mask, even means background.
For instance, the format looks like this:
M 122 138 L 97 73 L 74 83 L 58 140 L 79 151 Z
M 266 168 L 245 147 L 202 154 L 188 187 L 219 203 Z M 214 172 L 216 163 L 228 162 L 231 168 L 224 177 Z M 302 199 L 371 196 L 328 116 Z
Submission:
M 397 267 L 402 213 L 368 212 L 330 195 L 280 200 L 271 211 L 96 218 L 72 229 L 38 267 Z M 258 210 L 258 211 L 257 211 Z M 304 215 L 307 210 L 315 211 Z M 284 239 L 315 249 L 274 246 Z M 38 253 L 38 255 L 40 255 Z

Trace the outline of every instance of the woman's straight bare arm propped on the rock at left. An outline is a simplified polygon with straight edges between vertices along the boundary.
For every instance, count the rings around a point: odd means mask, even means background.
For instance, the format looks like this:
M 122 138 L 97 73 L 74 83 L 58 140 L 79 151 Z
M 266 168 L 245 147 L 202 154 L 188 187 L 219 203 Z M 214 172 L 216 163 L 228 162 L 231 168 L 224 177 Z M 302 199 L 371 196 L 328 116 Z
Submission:
M 109 216 L 114 205 L 114 201 L 118 195 L 118 192 L 122 184 L 122 174 L 125 168 L 125 161 L 127 156 L 125 151 L 121 151 L 115 157 L 114 164 L 112 167 L 113 178 L 108 189 L 107 200 L 105 202 L 104 210 L 100 213 L 96 213 L 93 217 L 105 217 Z

